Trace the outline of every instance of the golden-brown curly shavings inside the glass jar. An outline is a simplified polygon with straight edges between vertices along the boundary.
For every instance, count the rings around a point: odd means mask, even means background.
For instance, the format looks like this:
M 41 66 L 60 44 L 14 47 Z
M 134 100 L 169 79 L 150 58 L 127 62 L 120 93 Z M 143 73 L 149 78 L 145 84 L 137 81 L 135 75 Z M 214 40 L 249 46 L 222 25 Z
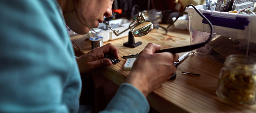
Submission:
M 223 98 L 237 103 L 254 103 L 255 77 L 242 74 L 226 74 L 220 80 L 219 88 L 222 89 Z M 241 103 L 242 104 L 242 103 Z

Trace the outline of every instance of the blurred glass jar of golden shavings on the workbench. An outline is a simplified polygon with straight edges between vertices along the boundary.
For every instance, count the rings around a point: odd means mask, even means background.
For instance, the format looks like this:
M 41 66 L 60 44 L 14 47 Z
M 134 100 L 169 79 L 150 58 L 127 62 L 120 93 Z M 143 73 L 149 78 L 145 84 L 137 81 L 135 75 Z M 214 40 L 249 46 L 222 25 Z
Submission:
M 230 55 L 221 69 L 216 94 L 239 104 L 255 104 L 256 58 Z

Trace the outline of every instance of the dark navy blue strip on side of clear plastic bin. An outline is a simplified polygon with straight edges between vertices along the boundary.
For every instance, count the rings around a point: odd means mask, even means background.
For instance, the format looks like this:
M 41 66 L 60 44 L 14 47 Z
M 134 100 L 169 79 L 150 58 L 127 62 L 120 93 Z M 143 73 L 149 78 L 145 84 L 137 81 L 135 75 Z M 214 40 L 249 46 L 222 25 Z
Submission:
M 245 26 L 249 25 L 249 21 L 247 18 L 236 17 L 236 19 L 222 18 L 222 17 L 214 17 L 209 13 L 203 13 L 205 17 L 211 22 L 212 25 L 215 26 L 223 26 L 235 29 L 244 30 Z M 206 21 L 202 20 L 203 24 L 207 24 Z

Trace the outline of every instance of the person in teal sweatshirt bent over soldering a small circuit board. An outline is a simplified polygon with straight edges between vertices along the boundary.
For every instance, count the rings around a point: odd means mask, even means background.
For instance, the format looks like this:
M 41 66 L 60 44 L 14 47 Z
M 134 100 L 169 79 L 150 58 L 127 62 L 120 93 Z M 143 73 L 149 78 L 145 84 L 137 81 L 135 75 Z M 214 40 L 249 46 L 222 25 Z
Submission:
M 110 66 L 103 58 L 112 44 L 74 58 L 65 24 L 86 34 L 111 16 L 113 0 L 2 0 L 0 1 L 0 112 L 75 113 L 79 109 L 80 73 Z M 147 95 L 175 72 L 177 54 L 155 53 L 148 44 L 131 73 L 101 113 L 149 111 Z M 147 68 L 145 68 L 147 67 Z M 93 76 L 93 75 L 92 75 Z

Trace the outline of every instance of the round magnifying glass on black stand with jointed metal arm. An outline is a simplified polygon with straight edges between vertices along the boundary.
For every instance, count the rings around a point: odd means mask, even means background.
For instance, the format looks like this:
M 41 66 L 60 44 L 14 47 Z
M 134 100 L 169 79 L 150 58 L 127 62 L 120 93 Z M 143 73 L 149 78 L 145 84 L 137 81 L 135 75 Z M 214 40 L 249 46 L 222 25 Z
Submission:
M 142 42 L 134 42 L 134 36 L 135 37 L 141 37 L 147 35 L 153 28 L 153 24 L 151 21 L 146 21 L 146 17 L 143 14 L 140 14 L 130 25 L 127 29 L 123 30 L 122 32 L 119 33 L 119 30 L 116 31 L 112 29 L 108 23 L 105 21 L 103 22 L 106 26 L 108 26 L 113 33 L 116 36 L 119 36 L 120 34 L 124 33 L 127 30 L 131 30 L 128 35 L 128 42 L 123 43 L 123 46 L 127 47 L 136 47 L 142 44 Z

